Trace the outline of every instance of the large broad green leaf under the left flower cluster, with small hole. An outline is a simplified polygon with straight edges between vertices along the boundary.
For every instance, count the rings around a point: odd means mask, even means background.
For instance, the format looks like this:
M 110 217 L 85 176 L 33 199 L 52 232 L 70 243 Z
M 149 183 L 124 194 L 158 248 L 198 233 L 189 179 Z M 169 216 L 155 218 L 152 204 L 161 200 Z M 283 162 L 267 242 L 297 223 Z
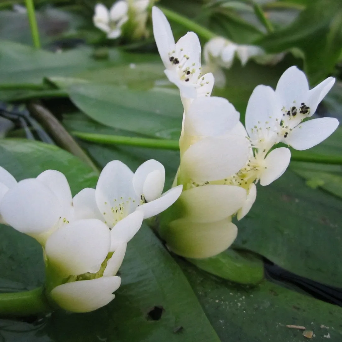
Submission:
M 49 168 L 60 170 L 73 194 L 96 184 L 97 174 L 77 158 L 38 142 L 1 140 L 0 161 L 18 180 Z M 10 227 L 1 226 L 0 235 L 1 290 L 40 285 L 44 266 L 39 244 Z M 120 274 L 122 286 L 106 307 L 89 314 L 56 311 L 34 324 L 0 320 L 1 336 L 4 341 L 219 342 L 180 267 L 146 226 L 130 242 Z M 153 310 L 155 315 L 149 315 Z

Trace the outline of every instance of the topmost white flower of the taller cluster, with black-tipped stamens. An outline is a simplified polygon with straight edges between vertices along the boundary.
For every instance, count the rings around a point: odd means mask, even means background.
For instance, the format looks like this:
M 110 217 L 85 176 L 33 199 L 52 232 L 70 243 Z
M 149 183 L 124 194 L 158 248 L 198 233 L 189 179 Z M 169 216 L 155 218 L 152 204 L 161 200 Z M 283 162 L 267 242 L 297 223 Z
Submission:
M 166 70 L 165 74 L 185 98 L 210 96 L 214 78 L 201 73 L 201 45 L 194 32 L 188 32 L 175 43 L 165 15 L 152 8 L 153 34 Z

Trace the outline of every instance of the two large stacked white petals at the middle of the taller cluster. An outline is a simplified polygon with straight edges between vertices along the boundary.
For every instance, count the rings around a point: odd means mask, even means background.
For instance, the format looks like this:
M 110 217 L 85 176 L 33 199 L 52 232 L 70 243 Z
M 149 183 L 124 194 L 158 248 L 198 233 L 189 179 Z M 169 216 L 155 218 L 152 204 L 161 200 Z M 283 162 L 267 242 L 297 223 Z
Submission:
M 192 102 L 180 139 L 179 184 L 188 188 L 220 180 L 245 165 L 248 140 L 229 134 L 238 122 L 239 113 L 222 97 L 198 97 Z

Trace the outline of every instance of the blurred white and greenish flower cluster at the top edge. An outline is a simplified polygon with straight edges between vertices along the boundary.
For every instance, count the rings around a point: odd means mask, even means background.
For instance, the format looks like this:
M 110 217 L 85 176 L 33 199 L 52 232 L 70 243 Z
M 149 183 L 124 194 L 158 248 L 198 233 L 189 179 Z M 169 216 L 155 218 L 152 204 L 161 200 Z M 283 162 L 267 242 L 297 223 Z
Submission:
M 150 0 L 118 0 L 109 10 L 99 3 L 95 6 L 94 25 L 104 31 L 109 39 L 119 38 L 126 23 L 133 38 L 147 36 L 147 10 L 151 3 L 153 1 Z

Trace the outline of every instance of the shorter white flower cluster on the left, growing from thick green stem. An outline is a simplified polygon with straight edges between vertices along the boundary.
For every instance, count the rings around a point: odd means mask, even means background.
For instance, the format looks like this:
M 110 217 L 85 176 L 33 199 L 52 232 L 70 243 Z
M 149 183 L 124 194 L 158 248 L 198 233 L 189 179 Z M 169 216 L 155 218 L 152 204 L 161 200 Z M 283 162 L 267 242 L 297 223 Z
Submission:
M 73 198 L 61 172 L 47 170 L 17 182 L 0 167 L 0 220 L 42 245 L 48 298 L 65 310 L 89 312 L 114 299 L 127 243 L 143 219 L 180 196 L 182 185 L 162 194 L 164 182 L 165 169 L 156 160 L 135 173 L 114 160 L 96 189 Z

